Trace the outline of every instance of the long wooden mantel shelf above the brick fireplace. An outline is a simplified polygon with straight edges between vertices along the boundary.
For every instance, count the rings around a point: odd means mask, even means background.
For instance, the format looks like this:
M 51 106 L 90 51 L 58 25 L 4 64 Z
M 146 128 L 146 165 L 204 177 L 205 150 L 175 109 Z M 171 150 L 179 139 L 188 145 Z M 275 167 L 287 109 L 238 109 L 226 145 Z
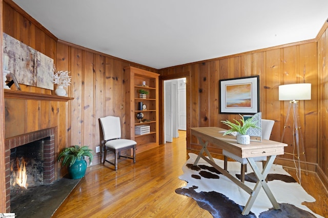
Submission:
M 67 102 L 74 98 L 58 96 L 52 94 L 35 93 L 28 91 L 15 91 L 11 89 L 4 89 L 5 99 L 29 99 L 29 100 L 43 100 L 43 101 L 56 101 L 56 102 Z

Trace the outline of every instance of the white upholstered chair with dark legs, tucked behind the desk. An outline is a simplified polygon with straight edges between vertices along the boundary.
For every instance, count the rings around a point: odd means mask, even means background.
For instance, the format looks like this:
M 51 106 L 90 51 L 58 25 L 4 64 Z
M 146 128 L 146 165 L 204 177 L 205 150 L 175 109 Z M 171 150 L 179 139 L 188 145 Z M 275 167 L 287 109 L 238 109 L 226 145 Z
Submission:
M 270 139 L 270 135 L 272 132 L 273 125 L 275 124 L 274 120 L 271 119 L 261 119 L 261 134 L 262 134 L 262 139 Z M 241 163 L 241 168 L 240 168 L 240 181 L 244 182 L 245 181 L 245 172 L 247 172 L 247 163 L 248 160 L 247 158 L 241 158 L 238 157 L 226 150 L 222 150 L 222 154 L 224 155 L 224 169 L 227 170 L 227 163 L 228 163 L 228 157 L 231 159 L 234 159 L 238 162 Z M 255 157 L 255 161 L 266 161 L 267 157 Z M 264 165 L 264 162 L 262 162 Z

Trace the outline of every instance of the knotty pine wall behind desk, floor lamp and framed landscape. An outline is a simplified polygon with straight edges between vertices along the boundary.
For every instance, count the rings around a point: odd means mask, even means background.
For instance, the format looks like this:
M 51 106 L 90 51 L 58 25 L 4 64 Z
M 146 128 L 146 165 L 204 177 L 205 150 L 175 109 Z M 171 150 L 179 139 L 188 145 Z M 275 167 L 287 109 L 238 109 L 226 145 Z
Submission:
M 312 99 L 299 102 L 300 122 L 303 130 L 306 161 L 308 168 L 316 170 L 317 134 L 318 134 L 318 74 L 317 42 L 306 41 L 292 45 L 273 47 L 265 50 L 232 55 L 159 70 L 162 78 L 170 79 L 175 74 L 189 72 L 191 115 L 187 121 L 189 127 L 217 126 L 225 128 L 220 120 L 239 119 L 235 114 L 219 114 L 219 80 L 259 75 L 260 111 L 265 119 L 275 120 L 272 140 L 280 141 L 283 124 L 289 102 L 278 100 L 278 86 L 291 83 L 311 83 Z M 292 153 L 292 120 L 285 135 L 289 146 L 285 152 Z M 188 132 L 189 134 L 189 132 Z M 197 139 L 187 136 L 190 149 L 199 149 Z M 187 139 L 187 140 L 188 140 Z M 212 149 L 220 153 L 220 150 Z M 291 155 L 282 155 L 279 162 L 294 166 Z

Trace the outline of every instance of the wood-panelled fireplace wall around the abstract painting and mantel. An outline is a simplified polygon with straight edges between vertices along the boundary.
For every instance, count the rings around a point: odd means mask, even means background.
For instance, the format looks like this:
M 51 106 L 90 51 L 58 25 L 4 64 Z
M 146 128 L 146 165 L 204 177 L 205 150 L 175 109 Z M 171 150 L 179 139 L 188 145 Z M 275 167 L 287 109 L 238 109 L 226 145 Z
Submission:
M 44 30 L 33 18 L 25 14 L 12 2 L 3 2 L 3 32 L 33 47 L 33 49 L 56 60 L 57 38 Z M 25 16 L 24 16 L 25 15 Z M 51 90 L 20 84 L 23 91 L 52 94 Z M 11 86 L 12 90 L 16 87 Z M 67 141 L 66 102 L 5 99 L 5 138 L 58 126 L 56 141 L 59 148 Z M 64 137 L 59 137 L 64 135 Z M 55 161 L 59 173 L 60 165 Z

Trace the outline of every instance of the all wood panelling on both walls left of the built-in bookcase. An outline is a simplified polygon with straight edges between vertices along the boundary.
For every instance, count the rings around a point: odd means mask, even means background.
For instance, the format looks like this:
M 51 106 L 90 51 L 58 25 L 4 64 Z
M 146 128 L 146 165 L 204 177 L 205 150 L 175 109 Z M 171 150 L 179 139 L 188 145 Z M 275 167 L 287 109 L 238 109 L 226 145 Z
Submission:
M 100 153 L 95 153 L 100 145 L 98 118 L 119 116 L 125 136 L 123 68 L 131 65 L 157 70 L 58 41 L 12 1 L 4 1 L 3 7 L 3 31 L 54 59 L 57 70 L 69 70 L 72 84 L 66 89 L 69 97 L 74 98 L 68 102 L 5 99 L 5 138 L 57 126 L 55 156 L 63 148 L 86 145 L 94 150 L 93 164 L 99 163 Z M 23 91 L 54 94 L 48 89 L 20 86 Z M 11 89 L 16 88 L 13 85 Z M 66 174 L 66 168 L 55 164 L 57 179 Z

